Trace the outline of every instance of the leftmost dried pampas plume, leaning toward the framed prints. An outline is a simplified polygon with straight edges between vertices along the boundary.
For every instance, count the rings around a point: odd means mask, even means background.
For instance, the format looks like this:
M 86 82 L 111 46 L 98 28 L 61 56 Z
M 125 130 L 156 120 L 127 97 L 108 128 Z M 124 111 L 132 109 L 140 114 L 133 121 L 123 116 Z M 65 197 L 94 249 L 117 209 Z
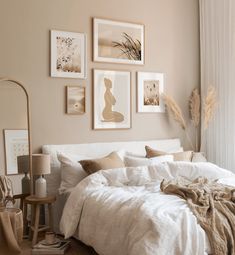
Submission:
M 177 121 L 180 124 L 181 128 L 185 130 L 186 129 L 185 120 L 182 111 L 175 102 L 175 100 L 172 97 L 167 96 L 166 94 L 162 94 L 162 98 L 165 101 L 168 111 L 173 115 L 175 121 Z

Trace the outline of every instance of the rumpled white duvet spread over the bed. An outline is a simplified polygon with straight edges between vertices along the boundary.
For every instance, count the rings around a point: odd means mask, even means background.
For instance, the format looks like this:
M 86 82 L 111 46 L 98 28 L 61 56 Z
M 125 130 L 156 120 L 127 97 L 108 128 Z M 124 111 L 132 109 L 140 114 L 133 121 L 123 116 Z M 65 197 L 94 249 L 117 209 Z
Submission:
M 60 223 L 65 238 L 75 234 L 100 255 L 203 255 L 204 230 L 186 202 L 160 191 L 163 178 L 181 175 L 221 179 L 235 175 L 210 163 L 161 163 L 99 171 L 72 191 Z

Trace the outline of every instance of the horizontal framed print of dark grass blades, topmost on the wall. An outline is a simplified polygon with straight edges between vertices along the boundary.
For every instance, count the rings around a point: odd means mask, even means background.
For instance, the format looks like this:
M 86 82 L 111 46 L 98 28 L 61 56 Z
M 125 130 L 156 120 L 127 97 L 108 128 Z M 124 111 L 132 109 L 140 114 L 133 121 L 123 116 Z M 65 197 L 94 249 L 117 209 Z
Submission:
M 144 64 L 144 25 L 93 20 L 94 61 Z

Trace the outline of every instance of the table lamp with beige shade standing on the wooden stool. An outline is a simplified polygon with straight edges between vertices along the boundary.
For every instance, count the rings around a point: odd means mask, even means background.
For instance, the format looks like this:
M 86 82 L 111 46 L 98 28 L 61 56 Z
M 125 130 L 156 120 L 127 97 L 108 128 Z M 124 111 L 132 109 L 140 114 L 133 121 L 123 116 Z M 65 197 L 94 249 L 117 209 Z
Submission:
M 51 172 L 50 155 L 33 154 L 32 165 L 33 175 L 39 175 L 39 178 L 35 181 L 35 196 L 46 197 L 47 184 L 43 175 Z

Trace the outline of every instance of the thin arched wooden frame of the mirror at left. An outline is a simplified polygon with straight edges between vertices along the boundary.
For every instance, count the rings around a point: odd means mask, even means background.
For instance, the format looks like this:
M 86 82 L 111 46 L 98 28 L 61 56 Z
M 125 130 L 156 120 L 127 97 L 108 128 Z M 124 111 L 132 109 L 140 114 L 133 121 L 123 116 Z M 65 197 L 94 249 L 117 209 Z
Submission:
M 8 77 L 0 77 L 1 82 L 11 82 L 16 84 L 17 86 L 21 87 L 25 93 L 26 101 L 27 101 L 27 128 L 28 128 L 28 143 L 29 143 L 29 176 L 30 176 L 30 194 L 33 194 L 33 174 L 32 174 L 32 138 L 31 138 L 31 119 L 30 119 L 30 101 L 29 101 L 29 94 L 24 87 L 24 85 L 14 79 Z

